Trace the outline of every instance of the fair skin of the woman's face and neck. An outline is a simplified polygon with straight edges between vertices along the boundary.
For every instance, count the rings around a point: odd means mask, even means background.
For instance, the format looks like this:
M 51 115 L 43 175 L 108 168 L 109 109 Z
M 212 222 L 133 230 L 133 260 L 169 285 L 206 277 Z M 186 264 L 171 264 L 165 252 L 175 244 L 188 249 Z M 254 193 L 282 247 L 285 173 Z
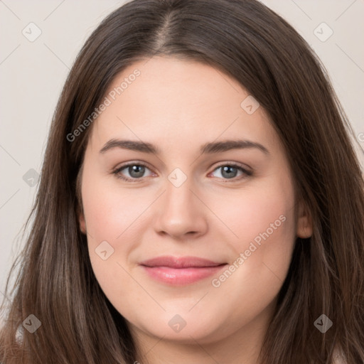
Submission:
M 135 69 L 141 75 L 92 124 L 82 171 L 80 228 L 87 233 L 97 281 L 125 319 L 142 363 L 257 363 L 277 294 L 287 275 L 294 241 L 309 237 L 311 218 L 295 200 L 283 146 L 262 107 L 247 114 L 249 93 L 210 65 L 171 57 L 138 61 L 119 73 L 109 90 Z M 249 139 L 268 149 L 200 154 L 212 141 Z M 109 139 L 147 141 L 161 154 L 100 149 Z M 124 168 L 147 164 L 142 177 Z M 237 169 L 232 178 L 219 166 Z M 168 180 L 180 168 L 186 181 Z M 133 173 L 133 172 L 132 172 Z M 137 176 L 137 177 L 135 177 Z M 233 181 L 235 180 L 235 181 Z M 139 262 L 160 255 L 236 262 L 259 233 L 285 220 L 220 287 L 214 277 L 183 287 L 151 279 Z M 95 249 L 106 240 L 106 260 Z M 168 322 L 178 314 L 179 332 Z

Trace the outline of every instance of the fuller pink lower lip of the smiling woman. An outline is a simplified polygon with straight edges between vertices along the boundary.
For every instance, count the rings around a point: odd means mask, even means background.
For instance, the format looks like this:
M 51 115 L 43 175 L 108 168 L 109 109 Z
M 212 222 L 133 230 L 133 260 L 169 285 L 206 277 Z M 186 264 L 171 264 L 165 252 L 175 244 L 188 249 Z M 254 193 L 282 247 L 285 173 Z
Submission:
M 171 284 L 173 286 L 183 286 L 198 282 L 216 274 L 227 264 L 216 267 L 190 267 L 190 268 L 171 268 L 171 267 L 146 267 L 142 265 L 149 276 L 159 282 Z

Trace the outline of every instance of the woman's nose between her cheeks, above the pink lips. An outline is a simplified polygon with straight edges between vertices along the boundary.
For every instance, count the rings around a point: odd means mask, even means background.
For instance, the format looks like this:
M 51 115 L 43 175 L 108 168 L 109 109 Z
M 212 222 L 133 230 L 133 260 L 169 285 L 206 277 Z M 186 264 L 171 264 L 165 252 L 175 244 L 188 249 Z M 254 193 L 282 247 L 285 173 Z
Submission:
M 155 230 L 159 235 L 176 239 L 191 239 L 205 234 L 208 229 L 208 208 L 194 188 L 191 178 L 179 187 L 166 181 L 166 191 L 159 198 Z

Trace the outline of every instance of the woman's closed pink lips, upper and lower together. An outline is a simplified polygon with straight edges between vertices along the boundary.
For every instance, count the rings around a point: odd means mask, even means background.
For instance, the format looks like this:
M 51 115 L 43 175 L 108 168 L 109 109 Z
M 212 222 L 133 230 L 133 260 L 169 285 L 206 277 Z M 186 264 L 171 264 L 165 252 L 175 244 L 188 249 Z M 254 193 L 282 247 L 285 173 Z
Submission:
M 139 263 L 149 277 L 165 284 L 183 286 L 216 274 L 225 262 L 213 262 L 200 257 L 162 256 Z

